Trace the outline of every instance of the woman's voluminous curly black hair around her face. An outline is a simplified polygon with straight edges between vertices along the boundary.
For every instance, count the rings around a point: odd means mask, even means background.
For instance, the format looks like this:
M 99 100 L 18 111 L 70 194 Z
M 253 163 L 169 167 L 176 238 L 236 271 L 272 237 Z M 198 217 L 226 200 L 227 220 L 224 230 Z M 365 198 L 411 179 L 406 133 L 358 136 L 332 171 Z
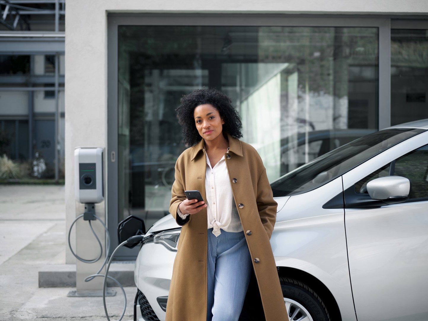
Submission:
M 242 122 L 238 111 L 232 106 L 232 99 L 217 89 L 195 89 L 190 94 L 184 95 L 180 99 L 181 105 L 175 110 L 177 112 L 178 123 L 183 129 L 183 142 L 195 145 L 202 139 L 196 129 L 193 111 L 203 104 L 211 104 L 218 110 L 223 118 L 223 133 L 228 133 L 232 137 L 242 137 Z

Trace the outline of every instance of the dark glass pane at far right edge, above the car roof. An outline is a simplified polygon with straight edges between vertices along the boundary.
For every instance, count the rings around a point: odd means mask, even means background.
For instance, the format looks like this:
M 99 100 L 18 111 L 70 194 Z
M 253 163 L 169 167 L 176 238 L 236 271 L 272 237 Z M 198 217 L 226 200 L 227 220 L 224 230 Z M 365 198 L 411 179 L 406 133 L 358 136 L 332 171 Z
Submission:
M 391 125 L 428 118 L 428 30 L 391 30 Z

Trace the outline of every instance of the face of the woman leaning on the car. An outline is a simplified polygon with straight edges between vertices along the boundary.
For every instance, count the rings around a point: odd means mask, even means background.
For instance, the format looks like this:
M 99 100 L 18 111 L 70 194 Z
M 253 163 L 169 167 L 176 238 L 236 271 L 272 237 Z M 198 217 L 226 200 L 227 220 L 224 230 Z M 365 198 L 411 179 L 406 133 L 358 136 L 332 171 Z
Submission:
M 196 129 L 205 141 L 214 142 L 217 139 L 223 139 L 221 133 L 223 131 L 224 120 L 213 105 L 203 104 L 197 106 L 193 111 L 193 117 Z

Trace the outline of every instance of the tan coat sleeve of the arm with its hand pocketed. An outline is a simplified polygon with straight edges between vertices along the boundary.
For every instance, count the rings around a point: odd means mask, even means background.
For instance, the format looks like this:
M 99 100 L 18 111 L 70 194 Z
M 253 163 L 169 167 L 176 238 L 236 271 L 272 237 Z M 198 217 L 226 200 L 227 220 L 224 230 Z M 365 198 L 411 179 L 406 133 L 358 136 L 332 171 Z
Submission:
M 276 220 L 276 208 L 278 204 L 273 199 L 272 188 L 270 187 L 266 169 L 262 172 L 257 182 L 257 208 L 259 210 L 260 220 L 265 228 L 266 234 L 270 239 L 273 226 Z

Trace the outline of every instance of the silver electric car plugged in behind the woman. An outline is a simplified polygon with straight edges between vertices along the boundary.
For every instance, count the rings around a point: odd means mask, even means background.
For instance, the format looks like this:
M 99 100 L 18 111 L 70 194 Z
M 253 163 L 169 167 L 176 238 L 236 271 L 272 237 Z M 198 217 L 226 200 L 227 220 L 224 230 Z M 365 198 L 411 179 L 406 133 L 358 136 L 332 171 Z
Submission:
M 428 119 L 366 135 L 271 187 L 290 320 L 428 320 Z M 179 236 L 172 216 L 146 233 L 135 320 L 165 320 Z

